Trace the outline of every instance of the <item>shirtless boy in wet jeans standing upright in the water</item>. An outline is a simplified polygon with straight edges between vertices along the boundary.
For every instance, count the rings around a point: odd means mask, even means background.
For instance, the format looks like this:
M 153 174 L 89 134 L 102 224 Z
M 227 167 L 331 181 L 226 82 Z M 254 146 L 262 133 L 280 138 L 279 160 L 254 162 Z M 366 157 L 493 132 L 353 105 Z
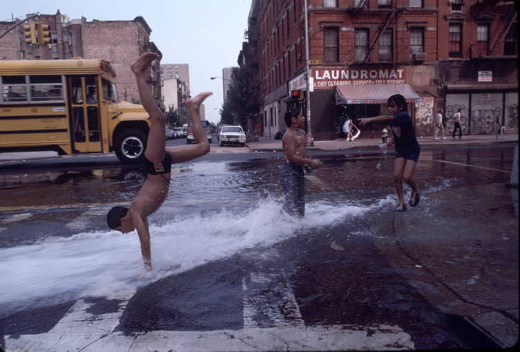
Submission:
M 285 192 L 283 209 L 287 214 L 303 216 L 305 214 L 305 183 L 303 167 L 311 165 L 315 169 L 321 166 L 320 160 L 305 157 L 305 117 L 300 109 L 289 109 L 285 113 L 287 130 L 282 137 L 283 158 L 280 165 L 280 183 Z

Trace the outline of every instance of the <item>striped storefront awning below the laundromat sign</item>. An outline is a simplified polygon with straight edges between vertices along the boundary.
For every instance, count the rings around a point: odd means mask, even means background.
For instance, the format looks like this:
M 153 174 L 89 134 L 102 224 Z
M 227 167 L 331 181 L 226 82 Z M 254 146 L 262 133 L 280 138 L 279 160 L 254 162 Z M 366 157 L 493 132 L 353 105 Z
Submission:
M 336 105 L 385 104 L 394 94 L 401 94 L 406 102 L 421 102 L 410 84 L 366 84 L 363 86 L 336 86 Z

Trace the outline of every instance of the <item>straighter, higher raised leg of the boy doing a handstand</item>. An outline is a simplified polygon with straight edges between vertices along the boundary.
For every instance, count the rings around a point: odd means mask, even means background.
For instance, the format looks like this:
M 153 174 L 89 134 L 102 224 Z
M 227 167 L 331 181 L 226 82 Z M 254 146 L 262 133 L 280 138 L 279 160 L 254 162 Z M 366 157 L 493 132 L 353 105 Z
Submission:
M 160 55 L 156 53 L 144 53 L 131 64 L 131 68 L 137 79 L 139 98 L 151 119 L 150 133 L 148 133 L 144 156 L 152 163 L 161 163 L 164 159 L 164 150 L 166 149 L 166 127 L 164 127 L 166 118 L 159 109 L 159 106 L 155 104 L 148 83 L 146 83 L 146 68 L 155 59 L 161 59 Z

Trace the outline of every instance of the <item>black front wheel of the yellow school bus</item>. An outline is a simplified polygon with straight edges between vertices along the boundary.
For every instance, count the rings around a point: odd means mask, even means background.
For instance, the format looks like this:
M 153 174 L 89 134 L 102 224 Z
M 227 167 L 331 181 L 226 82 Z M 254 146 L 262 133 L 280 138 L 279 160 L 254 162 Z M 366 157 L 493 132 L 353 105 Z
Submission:
M 137 164 L 144 160 L 146 133 L 138 129 L 128 129 L 115 138 L 114 149 L 123 163 Z

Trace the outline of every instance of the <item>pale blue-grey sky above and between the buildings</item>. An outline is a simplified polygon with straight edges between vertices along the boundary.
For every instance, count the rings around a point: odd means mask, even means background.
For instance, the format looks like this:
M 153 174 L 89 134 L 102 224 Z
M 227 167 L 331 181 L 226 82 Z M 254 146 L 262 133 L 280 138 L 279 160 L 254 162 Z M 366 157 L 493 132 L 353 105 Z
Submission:
M 222 68 L 238 66 L 238 53 L 247 30 L 251 0 L 2 0 L 0 21 L 28 13 L 69 19 L 132 20 L 142 16 L 152 29 L 151 41 L 161 50 L 164 64 L 189 64 L 191 95 L 213 91 L 204 102 L 206 120 L 218 122 L 222 107 Z M 102 57 L 101 57 L 102 58 Z

